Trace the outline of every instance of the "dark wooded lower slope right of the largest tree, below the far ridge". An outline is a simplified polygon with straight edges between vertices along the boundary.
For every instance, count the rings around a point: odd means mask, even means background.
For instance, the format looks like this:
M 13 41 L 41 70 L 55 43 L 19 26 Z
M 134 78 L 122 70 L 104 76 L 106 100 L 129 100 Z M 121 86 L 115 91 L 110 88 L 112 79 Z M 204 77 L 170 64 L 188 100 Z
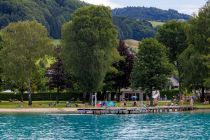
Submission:
M 113 22 L 118 28 L 119 38 L 142 40 L 144 38 L 154 37 L 156 30 L 148 21 L 137 21 L 126 17 L 113 17 Z

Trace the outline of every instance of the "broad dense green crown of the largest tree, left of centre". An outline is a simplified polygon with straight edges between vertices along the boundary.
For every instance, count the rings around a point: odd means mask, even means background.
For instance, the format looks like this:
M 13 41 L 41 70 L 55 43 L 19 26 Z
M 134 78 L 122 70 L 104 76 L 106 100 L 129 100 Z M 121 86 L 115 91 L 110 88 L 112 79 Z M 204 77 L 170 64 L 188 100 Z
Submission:
M 64 64 L 78 80 L 84 92 L 100 91 L 112 64 L 117 31 L 112 12 L 104 6 L 87 6 L 77 10 L 72 21 L 63 27 Z

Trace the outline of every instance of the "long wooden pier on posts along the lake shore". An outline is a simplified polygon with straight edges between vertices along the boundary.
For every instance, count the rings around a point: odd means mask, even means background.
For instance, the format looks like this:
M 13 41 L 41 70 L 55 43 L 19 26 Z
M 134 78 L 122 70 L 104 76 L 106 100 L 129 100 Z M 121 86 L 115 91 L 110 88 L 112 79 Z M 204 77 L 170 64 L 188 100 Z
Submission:
M 145 114 L 164 112 L 192 111 L 192 106 L 160 106 L 160 107 L 135 107 L 135 108 L 84 108 L 78 109 L 79 114 Z

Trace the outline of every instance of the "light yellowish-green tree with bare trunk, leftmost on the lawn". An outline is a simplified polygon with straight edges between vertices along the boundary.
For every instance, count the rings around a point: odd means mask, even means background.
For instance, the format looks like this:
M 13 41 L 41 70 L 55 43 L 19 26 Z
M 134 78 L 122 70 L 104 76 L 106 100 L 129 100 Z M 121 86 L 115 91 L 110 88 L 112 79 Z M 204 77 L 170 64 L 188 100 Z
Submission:
M 32 105 L 31 82 L 37 72 L 36 61 L 49 54 L 47 29 L 35 21 L 11 23 L 3 29 L 4 47 L 0 56 L 3 75 L 28 87 L 28 104 Z

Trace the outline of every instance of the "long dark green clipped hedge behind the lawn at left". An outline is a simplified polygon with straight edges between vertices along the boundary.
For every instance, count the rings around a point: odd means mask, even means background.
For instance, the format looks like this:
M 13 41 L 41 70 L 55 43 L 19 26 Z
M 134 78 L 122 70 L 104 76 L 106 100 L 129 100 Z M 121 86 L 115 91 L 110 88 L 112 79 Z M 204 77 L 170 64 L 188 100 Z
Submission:
M 32 94 L 32 100 L 33 101 L 51 101 L 51 100 L 56 100 L 56 97 L 58 96 L 57 93 L 34 93 Z M 59 95 L 59 100 L 61 101 L 68 101 L 72 99 L 81 99 L 82 98 L 82 93 L 60 93 Z M 24 101 L 28 100 L 28 94 L 24 93 L 23 94 L 23 99 Z M 17 93 L 0 93 L 0 100 L 1 101 L 9 101 L 9 100 L 21 100 L 21 94 Z

